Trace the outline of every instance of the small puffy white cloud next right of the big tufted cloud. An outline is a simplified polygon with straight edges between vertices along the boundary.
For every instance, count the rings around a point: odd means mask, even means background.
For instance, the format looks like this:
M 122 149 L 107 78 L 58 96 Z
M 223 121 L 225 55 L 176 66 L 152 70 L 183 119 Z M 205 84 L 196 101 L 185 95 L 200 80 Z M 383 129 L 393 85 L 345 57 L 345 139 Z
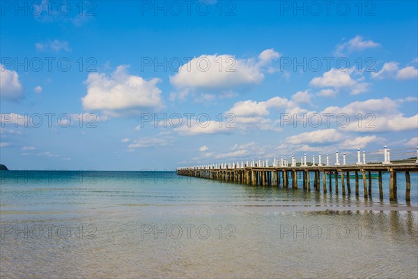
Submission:
M 351 75 L 355 72 L 354 68 L 342 70 L 332 68 L 328 72 L 323 73 L 322 77 L 314 77 L 309 85 L 315 87 L 333 87 L 334 91 L 339 91 L 343 88 L 350 89 L 351 95 L 357 95 L 359 93 L 364 93 L 369 90 L 370 84 L 362 82 L 362 78 L 354 80 Z M 331 93 L 331 91 L 325 91 L 326 93 Z M 333 92 L 334 93 L 334 92 Z

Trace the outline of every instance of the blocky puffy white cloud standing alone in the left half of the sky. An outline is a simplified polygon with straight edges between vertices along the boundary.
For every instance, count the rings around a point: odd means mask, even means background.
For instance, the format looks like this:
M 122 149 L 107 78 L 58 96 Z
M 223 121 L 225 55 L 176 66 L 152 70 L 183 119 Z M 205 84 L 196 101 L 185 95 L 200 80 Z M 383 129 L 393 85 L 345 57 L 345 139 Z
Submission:
M 90 73 L 87 80 L 87 95 L 82 98 L 84 110 L 102 110 L 118 116 L 121 112 L 139 112 L 163 107 L 161 90 L 156 86 L 159 79 L 146 81 L 129 75 L 127 66 L 118 66 L 111 76 Z

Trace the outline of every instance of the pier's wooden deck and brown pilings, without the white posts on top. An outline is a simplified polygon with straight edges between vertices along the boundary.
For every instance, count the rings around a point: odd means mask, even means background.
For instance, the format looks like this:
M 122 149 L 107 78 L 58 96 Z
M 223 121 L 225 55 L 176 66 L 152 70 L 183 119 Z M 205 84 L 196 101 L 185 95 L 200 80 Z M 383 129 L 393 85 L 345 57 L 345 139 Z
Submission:
M 274 162 L 275 163 L 275 162 Z M 267 164 L 266 164 L 267 165 Z M 293 166 L 261 166 L 247 167 L 247 164 L 240 167 L 239 164 L 228 167 L 221 165 L 206 165 L 201 167 L 178 168 L 177 174 L 183 176 L 194 176 L 203 179 L 216 179 L 219 181 L 230 181 L 252 186 L 272 186 L 298 188 L 297 176 L 302 177 L 302 188 L 320 190 L 320 177 L 322 177 L 323 193 L 332 192 L 332 180 L 334 180 L 334 192 L 341 190 L 342 195 L 351 193 L 350 173 L 355 174 L 355 195 L 359 195 L 360 183 L 365 198 L 371 197 L 372 173 L 378 173 L 379 197 L 383 197 L 382 173 L 388 172 L 389 176 L 389 199 L 397 199 L 397 179 L 399 172 L 405 173 L 405 199 L 410 201 L 410 172 L 418 172 L 417 163 L 389 163 L 389 164 L 356 164 L 356 165 L 293 165 Z M 290 180 L 290 181 L 289 181 Z M 289 183 L 291 182 L 291 183 Z M 339 182 L 341 186 L 339 186 Z M 328 186 L 328 187 L 327 187 Z

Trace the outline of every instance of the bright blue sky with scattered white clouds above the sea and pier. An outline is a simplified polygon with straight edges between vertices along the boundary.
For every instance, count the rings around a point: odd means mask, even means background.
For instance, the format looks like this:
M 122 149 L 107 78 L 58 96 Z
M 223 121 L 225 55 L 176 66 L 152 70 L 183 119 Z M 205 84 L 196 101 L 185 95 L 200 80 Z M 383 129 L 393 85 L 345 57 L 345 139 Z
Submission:
M 417 1 L 0 3 L 9 169 L 418 146 Z

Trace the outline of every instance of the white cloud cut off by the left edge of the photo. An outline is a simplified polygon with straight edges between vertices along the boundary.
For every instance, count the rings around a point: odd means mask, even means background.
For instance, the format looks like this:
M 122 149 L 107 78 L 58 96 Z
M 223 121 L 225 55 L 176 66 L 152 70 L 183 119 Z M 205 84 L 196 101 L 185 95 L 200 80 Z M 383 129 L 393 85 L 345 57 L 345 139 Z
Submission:
M 6 69 L 0 63 L 0 97 L 8 100 L 17 100 L 23 95 L 23 86 L 15 70 Z

